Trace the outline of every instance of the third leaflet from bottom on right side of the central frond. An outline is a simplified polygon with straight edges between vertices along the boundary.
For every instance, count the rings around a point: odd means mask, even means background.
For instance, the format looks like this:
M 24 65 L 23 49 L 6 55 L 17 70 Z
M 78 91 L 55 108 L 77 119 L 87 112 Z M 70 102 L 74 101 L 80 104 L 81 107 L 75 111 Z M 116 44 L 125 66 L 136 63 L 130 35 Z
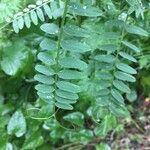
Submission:
M 56 94 L 59 97 L 65 98 L 65 99 L 72 99 L 72 100 L 76 100 L 78 99 L 78 95 L 75 93 L 71 93 L 71 92 L 66 92 L 66 91 L 62 91 L 60 89 L 56 90 Z

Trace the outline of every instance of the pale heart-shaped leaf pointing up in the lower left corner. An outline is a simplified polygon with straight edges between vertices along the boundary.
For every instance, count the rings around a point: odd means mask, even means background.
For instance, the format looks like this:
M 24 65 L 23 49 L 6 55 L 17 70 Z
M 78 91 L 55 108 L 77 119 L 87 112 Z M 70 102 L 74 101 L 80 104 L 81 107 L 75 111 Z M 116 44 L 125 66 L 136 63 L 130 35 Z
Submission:
M 20 110 L 16 111 L 9 120 L 7 133 L 15 134 L 16 137 L 21 137 L 26 133 L 26 120 Z

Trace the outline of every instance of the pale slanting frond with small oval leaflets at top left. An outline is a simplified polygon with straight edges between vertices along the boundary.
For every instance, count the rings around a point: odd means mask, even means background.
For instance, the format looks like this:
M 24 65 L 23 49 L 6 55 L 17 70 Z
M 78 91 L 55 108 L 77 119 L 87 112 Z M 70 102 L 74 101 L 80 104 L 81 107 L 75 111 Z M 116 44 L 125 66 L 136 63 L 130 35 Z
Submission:
M 24 9 L 23 12 L 16 14 L 12 21 L 14 31 L 18 33 L 24 26 L 30 28 L 31 23 L 38 25 L 38 20 L 45 21 L 45 15 L 50 19 L 60 17 L 63 13 L 63 3 L 61 1 L 49 3 L 49 0 L 39 1 L 36 5 L 28 5 L 28 8 Z

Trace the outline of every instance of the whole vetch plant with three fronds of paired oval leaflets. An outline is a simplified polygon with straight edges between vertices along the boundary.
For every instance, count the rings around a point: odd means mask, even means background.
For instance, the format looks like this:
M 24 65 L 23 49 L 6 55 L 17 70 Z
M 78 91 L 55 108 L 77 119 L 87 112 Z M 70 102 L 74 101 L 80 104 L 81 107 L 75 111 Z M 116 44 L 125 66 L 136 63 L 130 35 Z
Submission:
M 137 73 L 129 63 L 137 62 L 133 54 L 141 50 L 126 39 L 126 34 L 147 37 L 148 33 L 129 24 L 128 17 L 113 23 L 106 21 L 106 31 L 92 29 L 92 20 L 104 15 L 98 6 L 92 5 L 69 0 L 38 1 L 36 5 L 29 5 L 25 13 L 17 15 L 13 28 L 18 33 L 24 25 L 29 28 L 31 22 L 37 25 L 38 18 L 44 21 L 45 15 L 53 19 L 41 25 L 45 36 L 40 43 L 41 51 L 37 55 L 40 63 L 35 66 L 34 79 L 39 82 L 35 86 L 37 95 L 50 103 L 54 112 L 56 108 L 72 110 L 82 92 L 80 81 L 94 78 L 96 90 L 92 109 L 105 108 L 117 117 L 128 116 L 123 95 L 131 92 L 129 83 L 136 81 Z M 79 16 L 86 19 L 76 23 Z M 62 18 L 60 24 L 58 17 Z M 73 21 L 70 22 L 70 18 Z M 99 23 L 96 24 L 98 27 Z

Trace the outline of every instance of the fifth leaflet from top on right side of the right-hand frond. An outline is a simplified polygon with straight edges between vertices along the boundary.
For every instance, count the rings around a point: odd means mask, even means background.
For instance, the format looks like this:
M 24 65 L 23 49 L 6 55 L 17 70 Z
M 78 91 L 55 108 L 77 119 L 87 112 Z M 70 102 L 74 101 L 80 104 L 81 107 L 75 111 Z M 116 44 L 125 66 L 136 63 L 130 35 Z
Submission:
M 115 77 L 119 80 L 122 80 L 122 81 L 128 81 L 128 82 L 135 82 L 136 81 L 135 77 L 133 77 L 130 74 L 121 72 L 121 71 L 116 71 Z

